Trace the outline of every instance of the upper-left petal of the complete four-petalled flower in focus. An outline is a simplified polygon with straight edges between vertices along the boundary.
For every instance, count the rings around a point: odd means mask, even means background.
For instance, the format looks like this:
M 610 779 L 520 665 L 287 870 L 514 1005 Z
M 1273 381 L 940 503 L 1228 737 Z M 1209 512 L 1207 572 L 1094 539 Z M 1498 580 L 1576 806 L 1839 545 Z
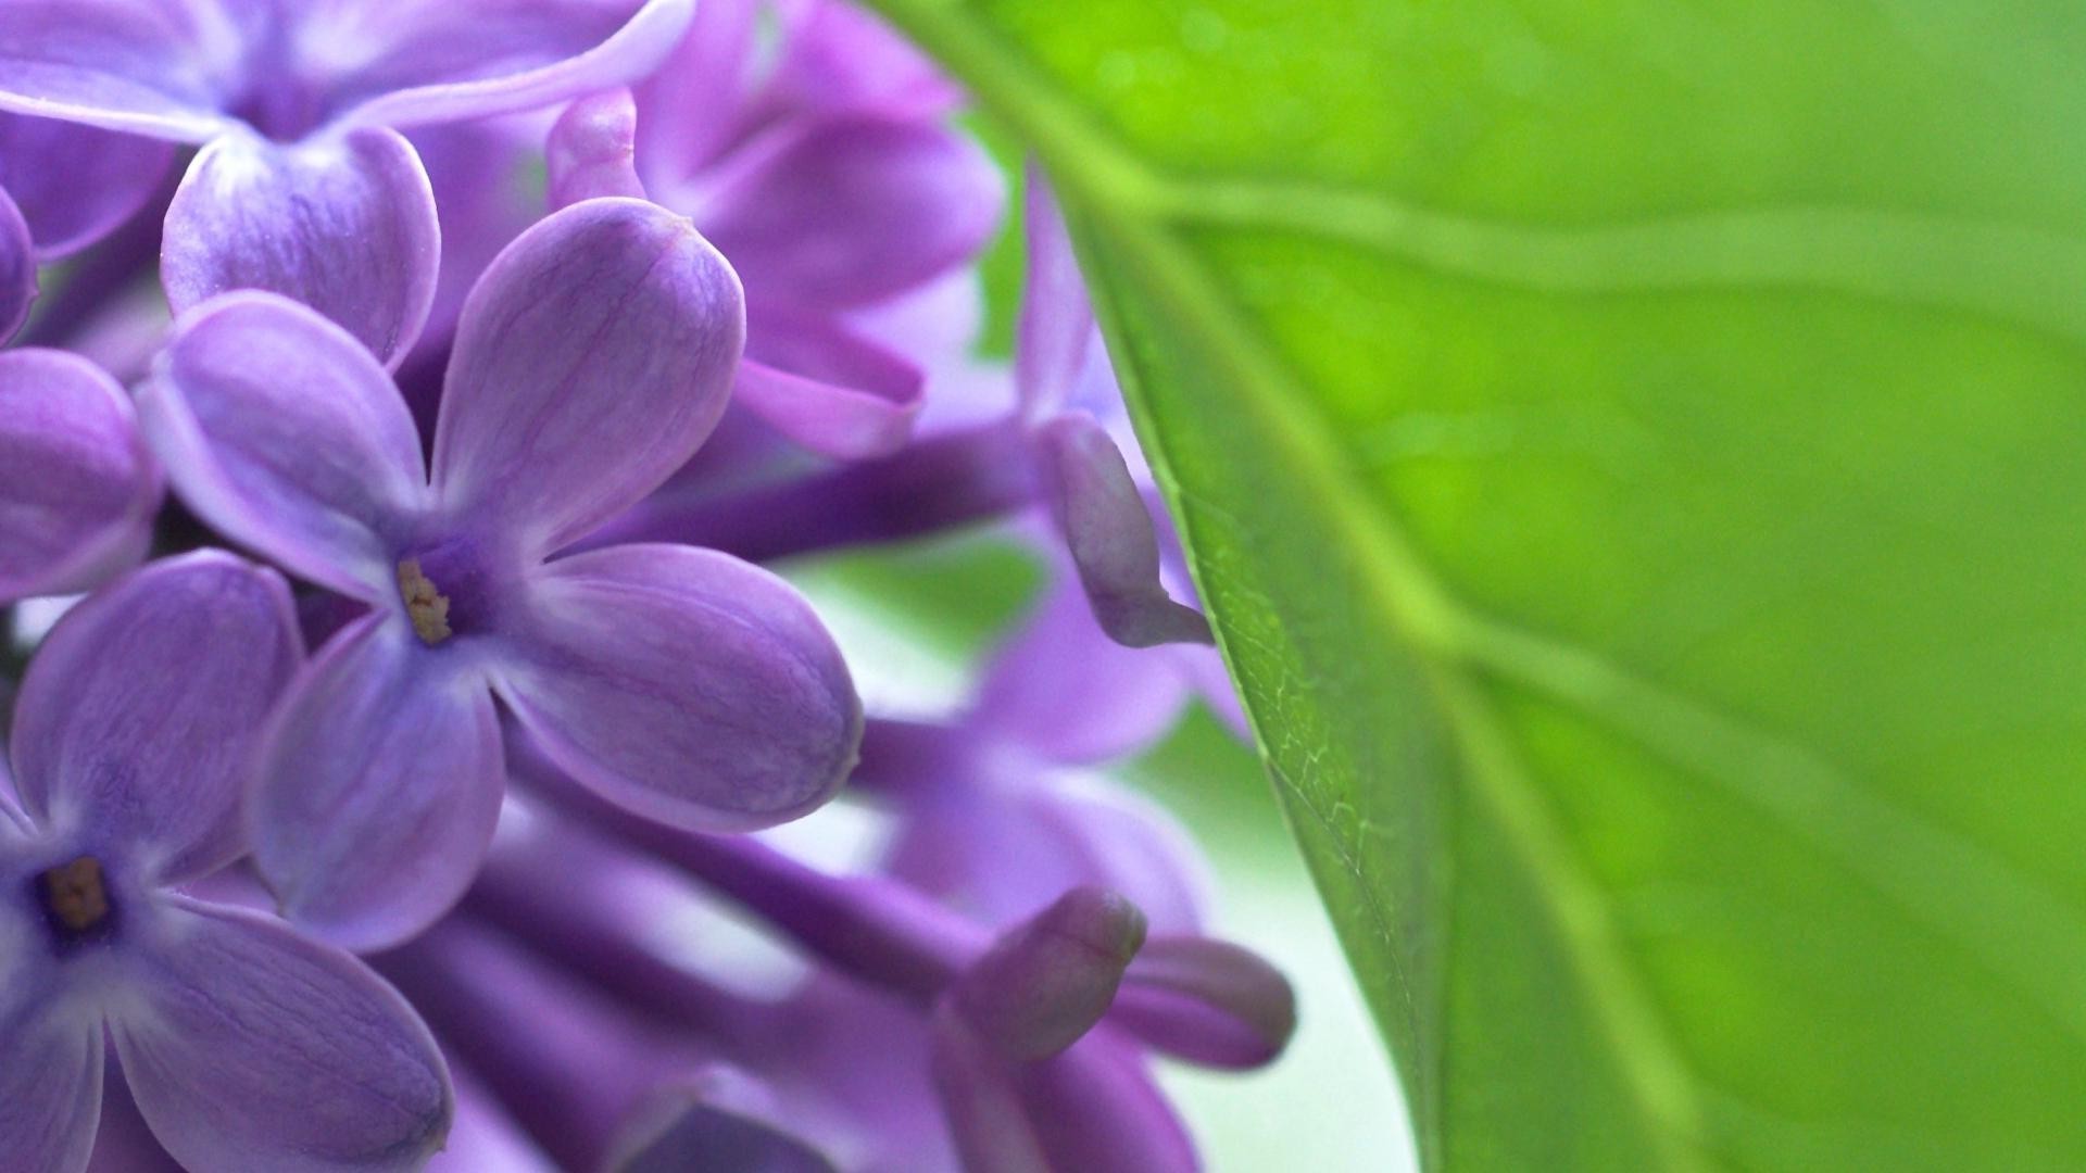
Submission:
M 204 522 L 342 595 L 396 593 L 384 534 L 428 478 L 405 401 L 344 330 L 265 292 L 204 303 L 175 324 L 138 413 Z

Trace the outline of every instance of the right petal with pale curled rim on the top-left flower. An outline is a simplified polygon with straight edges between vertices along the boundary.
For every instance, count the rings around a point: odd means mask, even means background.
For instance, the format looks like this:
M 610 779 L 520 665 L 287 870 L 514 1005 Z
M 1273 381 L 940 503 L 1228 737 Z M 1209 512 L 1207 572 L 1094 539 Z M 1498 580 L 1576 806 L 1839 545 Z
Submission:
M 338 4 L 321 35 L 363 38 L 369 67 L 334 77 L 350 125 L 421 125 L 532 111 L 651 73 L 695 0 Z

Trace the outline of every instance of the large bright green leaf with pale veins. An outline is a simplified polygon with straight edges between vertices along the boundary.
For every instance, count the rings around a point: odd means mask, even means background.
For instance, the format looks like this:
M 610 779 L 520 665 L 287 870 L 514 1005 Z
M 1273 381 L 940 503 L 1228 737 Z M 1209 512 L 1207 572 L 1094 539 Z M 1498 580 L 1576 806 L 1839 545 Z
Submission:
M 1070 205 L 1429 1165 L 2086 1167 L 2069 4 L 878 6 Z

